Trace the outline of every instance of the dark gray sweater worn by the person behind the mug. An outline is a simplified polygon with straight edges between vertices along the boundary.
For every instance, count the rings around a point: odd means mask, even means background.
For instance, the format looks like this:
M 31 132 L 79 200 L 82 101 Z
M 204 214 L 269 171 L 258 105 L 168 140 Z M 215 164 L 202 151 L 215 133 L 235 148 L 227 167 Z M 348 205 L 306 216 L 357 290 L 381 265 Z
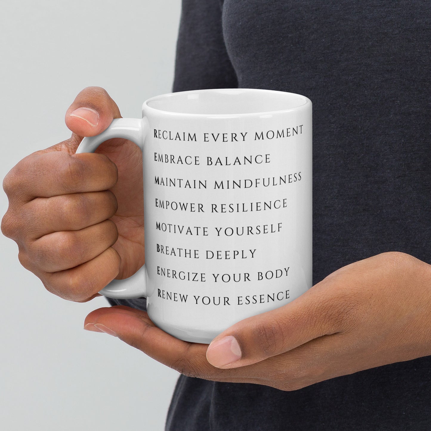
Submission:
M 431 263 L 430 23 L 429 0 L 183 0 L 173 91 L 312 100 L 313 284 L 389 250 Z M 431 356 L 292 392 L 181 376 L 166 428 L 431 430 L 430 404 Z

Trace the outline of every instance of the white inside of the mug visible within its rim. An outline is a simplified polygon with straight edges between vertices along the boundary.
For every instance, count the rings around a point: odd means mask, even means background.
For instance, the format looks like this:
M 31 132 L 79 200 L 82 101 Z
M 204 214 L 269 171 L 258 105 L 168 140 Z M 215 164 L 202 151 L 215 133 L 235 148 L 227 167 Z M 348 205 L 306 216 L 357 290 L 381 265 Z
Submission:
M 254 88 L 180 91 L 151 97 L 144 107 L 201 115 L 265 114 L 295 109 L 308 99 L 300 94 Z

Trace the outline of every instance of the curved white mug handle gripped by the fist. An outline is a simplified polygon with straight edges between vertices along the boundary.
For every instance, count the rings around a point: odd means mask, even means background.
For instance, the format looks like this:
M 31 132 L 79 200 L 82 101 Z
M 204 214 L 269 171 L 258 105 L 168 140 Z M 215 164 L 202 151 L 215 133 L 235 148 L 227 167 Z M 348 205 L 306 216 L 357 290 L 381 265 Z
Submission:
M 143 151 L 144 138 L 148 131 L 147 119 L 116 118 L 106 130 L 97 136 L 84 137 L 76 150 L 78 153 L 94 153 L 102 142 L 120 137 L 134 142 Z M 145 265 L 129 278 L 112 280 L 99 292 L 108 298 L 130 299 L 147 296 L 147 270 Z

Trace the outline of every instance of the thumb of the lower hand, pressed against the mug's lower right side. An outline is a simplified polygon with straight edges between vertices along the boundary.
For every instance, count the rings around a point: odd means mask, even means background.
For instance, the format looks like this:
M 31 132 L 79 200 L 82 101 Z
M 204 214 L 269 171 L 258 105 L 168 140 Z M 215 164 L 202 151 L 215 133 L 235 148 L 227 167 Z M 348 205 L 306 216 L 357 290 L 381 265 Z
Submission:
M 218 368 L 251 365 L 336 333 L 340 302 L 319 284 L 284 306 L 241 320 L 222 332 L 209 344 L 208 362 Z

